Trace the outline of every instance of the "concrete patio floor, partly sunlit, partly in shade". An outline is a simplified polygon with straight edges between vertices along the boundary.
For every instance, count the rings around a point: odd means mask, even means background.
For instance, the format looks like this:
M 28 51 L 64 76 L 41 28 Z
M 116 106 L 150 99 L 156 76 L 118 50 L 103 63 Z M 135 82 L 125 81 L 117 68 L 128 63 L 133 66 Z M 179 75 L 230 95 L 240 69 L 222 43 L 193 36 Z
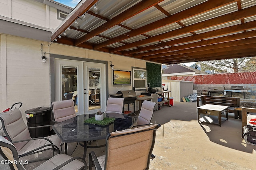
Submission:
M 241 119 L 229 113 L 228 121 L 217 124 L 197 121 L 196 102 L 174 102 L 154 112 L 153 123 L 160 123 L 150 160 L 150 170 L 254 170 L 256 146 L 247 145 L 241 137 Z M 101 141 L 104 143 L 104 141 Z M 68 145 L 71 154 L 76 143 Z M 94 150 L 105 154 L 105 147 Z M 72 156 L 82 156 L 83 147 L 77 146 Z M 88 162 L 88 155 L 86 156 Z M 1 158 L 2 160 L 2 158 Z M 42 161 L 25 165 L 32 170 Z M 9 169 L 0 164 L 0 169 Z

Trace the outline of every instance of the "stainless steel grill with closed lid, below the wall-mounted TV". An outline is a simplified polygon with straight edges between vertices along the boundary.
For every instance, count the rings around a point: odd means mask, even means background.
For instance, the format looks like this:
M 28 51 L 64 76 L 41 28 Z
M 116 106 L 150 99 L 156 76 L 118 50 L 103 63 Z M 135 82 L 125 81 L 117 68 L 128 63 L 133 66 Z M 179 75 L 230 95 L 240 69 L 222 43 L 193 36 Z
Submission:
M 128 110 L 130 110 L 130 104 L 133 103 L 135 111 L 137 94 L 134 90 L 120 90 L 116 94 L 110 94 L 109 96 L 112 98 L 124 98 L 124 104 L 128 104 Z

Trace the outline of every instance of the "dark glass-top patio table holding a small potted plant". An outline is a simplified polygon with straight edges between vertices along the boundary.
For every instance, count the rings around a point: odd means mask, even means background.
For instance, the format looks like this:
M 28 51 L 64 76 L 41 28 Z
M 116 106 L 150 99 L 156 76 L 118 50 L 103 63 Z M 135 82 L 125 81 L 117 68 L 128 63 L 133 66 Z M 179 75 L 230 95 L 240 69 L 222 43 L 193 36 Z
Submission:
M 84 142 L 84 156 L 86 156 L 87 141 L 106 139 L 108 133 L 122 131 L 132 125 L 132 117 L 118 113 L 104 113 L 104 117 L 114 117 L 115 121 L 105 125 L 84 123 L 93 114 L 78 115 L 66 121 L 52 125 L 54 132 L 65 143 Z

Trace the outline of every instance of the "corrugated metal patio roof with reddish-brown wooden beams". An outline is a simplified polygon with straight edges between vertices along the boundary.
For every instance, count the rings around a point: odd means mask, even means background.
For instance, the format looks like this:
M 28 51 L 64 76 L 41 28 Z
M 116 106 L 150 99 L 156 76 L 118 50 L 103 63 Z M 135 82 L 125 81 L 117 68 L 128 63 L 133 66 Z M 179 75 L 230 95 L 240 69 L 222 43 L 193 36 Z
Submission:
M 256 1 L 81 0 L 51 40 L 162 64 L 252 57 Z

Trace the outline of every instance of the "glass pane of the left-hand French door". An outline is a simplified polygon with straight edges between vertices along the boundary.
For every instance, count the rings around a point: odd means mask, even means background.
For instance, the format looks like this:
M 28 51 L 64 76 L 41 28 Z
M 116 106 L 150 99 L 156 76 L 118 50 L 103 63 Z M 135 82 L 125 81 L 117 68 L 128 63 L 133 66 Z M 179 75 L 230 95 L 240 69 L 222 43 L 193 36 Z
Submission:
M 62 66 L 62 100 L 72 99 L 78 112 L 77 68 Z

